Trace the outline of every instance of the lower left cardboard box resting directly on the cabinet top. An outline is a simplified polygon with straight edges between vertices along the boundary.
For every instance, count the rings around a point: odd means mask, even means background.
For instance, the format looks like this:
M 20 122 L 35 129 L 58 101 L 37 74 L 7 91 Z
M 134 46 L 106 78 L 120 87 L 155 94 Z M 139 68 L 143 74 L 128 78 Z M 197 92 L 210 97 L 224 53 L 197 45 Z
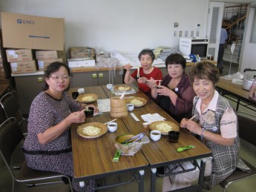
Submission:
M 12 73 L 32 73 L 36 72 L 36 61 L 10 62 Z

